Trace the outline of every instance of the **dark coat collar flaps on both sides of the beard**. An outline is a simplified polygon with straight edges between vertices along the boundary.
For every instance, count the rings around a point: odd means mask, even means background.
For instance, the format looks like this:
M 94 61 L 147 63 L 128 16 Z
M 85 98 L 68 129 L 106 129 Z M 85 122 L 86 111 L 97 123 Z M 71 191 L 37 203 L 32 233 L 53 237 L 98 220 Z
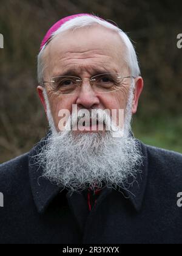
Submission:
M 29 152 L 29 177 L 30 177 L 30 185 L 32 188 L 33 199 L 35 201 L 36 208 L 39 213 L 44 213 L 49 204 L 53 201 L 53 199 L 58 196 L 59 193 L 62 193 L 62 196 L 67 194 L 67 198 L 71 196 L 70 192 L 64 190 L 64 188 L 57 187 L 52 184 L 48 179 L 42 177 L 42 167 L 39 166 L 39 163 L 36 163 L 35 155 L 41 150 L 42 146 L 46 143 L 47 138 L 49 137 L 49 133 L 47 136 L 42 139 L 35 147 Z M 142 154 L 144 156 L 143 165 L 138 168 L 138 174 L 136 179 L 133 181 L 132 178 L 129 178 L 128 183 L 129 186 L 124 189 L 118 190 L 117 193 L 120 193 L 121 196 L 124 196 L 126 199 L 129 199 L 133 207 L 136 211 L 140 211 L 144 193 L 146 190 L 147 183 L 147 172 L 148 172 L 148 159 L 147 159 L 147 148 L 146 146 L 138 141 L 141 147 Z M 64 191 L 64 193 L 63 193 Z M 109 194 L 112 192 L 110 188 L 104 188 L 101 192 L 103 194 Z M 73 195 L 72 195 L 73 196 Z M 74 196 L 73 196 L 74 197 Z

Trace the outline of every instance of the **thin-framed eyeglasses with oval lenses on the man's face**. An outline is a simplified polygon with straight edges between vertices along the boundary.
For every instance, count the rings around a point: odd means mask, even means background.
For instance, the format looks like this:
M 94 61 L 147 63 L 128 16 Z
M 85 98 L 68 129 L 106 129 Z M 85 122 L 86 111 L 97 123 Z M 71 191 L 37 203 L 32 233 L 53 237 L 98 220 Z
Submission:
M 89 80 L 93 90 L 97 93 L 111 93 L 113 91 L 121 90 L 121 88 L 130 84 L 128 79 L 135 78 L 133 76 L 121 76 L 117 73 L 99 74 L 90 79 L 81 79 L 76 76 L 56 76 L 52 77 L 50 81 L 44 81 L 43 84 L 49 83 L 53 93 L 70 95 L 75 94 L 83 80 Z

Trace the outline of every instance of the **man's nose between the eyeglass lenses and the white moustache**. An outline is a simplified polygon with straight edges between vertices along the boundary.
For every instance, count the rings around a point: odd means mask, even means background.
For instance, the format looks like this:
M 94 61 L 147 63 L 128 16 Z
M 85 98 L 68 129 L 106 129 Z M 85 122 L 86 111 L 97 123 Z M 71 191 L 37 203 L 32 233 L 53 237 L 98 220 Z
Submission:
M 89 80 L 84 80 L 83 84 L 78 93 L 78 98 L 76 99 L 76 104 L 80 108 L 93 108 L 98 107 L 99 98 L 96 96 L 95 91 L 93 91 Z

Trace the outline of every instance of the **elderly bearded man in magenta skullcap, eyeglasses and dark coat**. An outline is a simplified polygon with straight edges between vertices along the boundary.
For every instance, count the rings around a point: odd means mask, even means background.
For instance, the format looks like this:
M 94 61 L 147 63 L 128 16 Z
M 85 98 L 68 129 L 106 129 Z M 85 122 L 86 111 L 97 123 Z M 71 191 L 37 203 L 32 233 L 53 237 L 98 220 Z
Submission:
M 58 21 L 38 84 L 50 131 L 0 166 L 0 243 L 181 243 L 182 155 L 133 136 L 143 79 L 127 35 L 89 14 Z

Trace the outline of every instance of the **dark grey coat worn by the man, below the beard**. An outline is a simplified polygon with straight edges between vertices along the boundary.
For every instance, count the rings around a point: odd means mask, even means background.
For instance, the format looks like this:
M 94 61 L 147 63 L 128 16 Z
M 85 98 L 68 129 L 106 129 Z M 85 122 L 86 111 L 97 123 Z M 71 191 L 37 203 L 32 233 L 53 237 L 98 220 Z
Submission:
M 39 178 L 32 155 L 40 146 L 0 165 L 0 243 L 182 243 L 181 154 L 141 143 L 136 182 L 129 191 L 104 188 L 89 212 L 84 193 Z

